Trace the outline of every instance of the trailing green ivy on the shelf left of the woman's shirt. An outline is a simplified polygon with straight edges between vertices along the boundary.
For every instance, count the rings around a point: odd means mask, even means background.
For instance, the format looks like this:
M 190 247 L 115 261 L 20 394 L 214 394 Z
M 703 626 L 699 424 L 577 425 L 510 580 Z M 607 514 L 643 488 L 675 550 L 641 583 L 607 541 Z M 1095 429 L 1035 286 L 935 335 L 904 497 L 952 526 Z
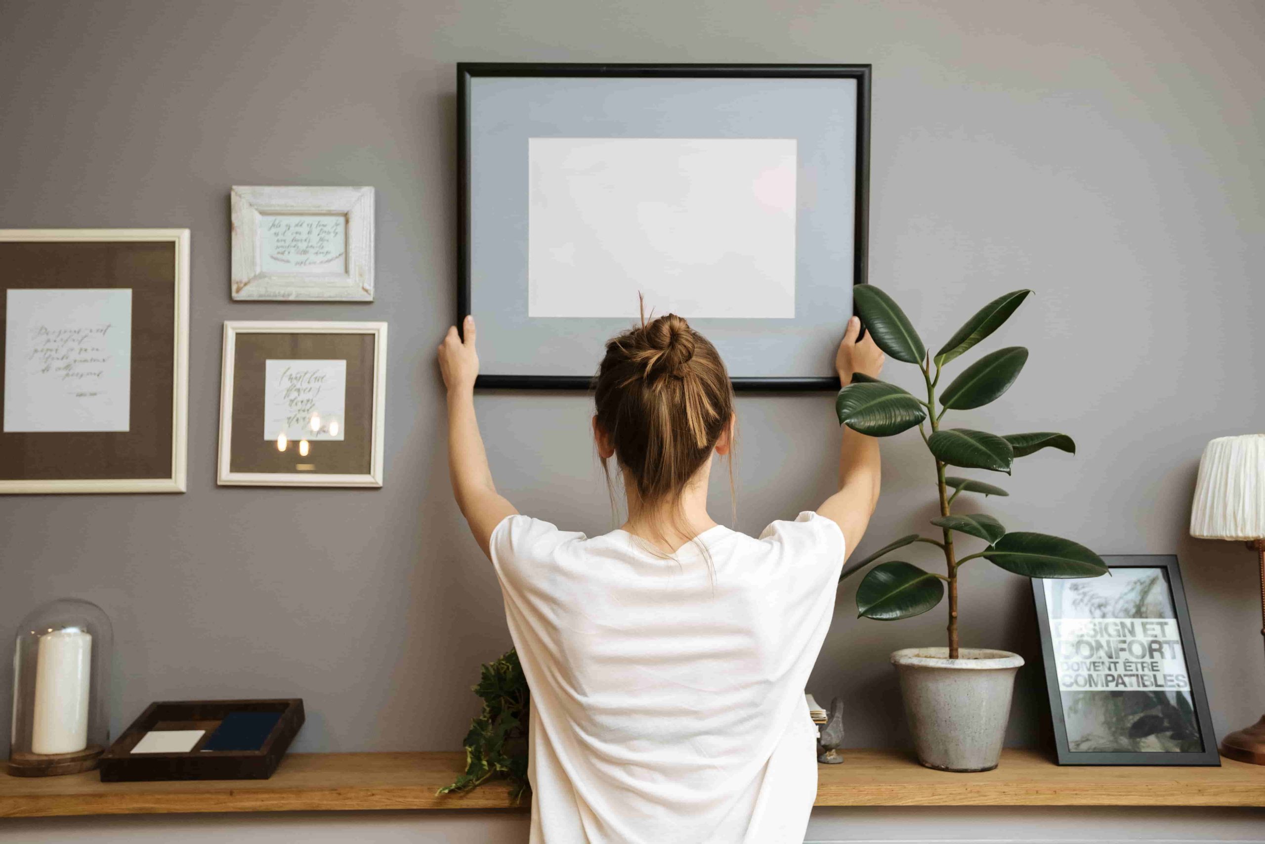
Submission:
M 510 797 L 519 802 L 528 785 L 528 678 L 516 650 L 486 663 L 471 687 L 483 698 L 483 711 L 466 734 L 466 773 L 438 793 L 467 791 L 492 777 L 510 779 Z

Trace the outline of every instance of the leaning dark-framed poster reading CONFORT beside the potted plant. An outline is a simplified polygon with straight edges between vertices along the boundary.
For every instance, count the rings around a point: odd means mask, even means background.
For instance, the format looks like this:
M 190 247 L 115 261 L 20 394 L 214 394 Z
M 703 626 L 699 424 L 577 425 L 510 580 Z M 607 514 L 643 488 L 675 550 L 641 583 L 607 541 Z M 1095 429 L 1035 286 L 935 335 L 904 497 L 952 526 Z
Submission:
M 1178 558 L 1032 580 L 1059 764 L 1218 766 Z

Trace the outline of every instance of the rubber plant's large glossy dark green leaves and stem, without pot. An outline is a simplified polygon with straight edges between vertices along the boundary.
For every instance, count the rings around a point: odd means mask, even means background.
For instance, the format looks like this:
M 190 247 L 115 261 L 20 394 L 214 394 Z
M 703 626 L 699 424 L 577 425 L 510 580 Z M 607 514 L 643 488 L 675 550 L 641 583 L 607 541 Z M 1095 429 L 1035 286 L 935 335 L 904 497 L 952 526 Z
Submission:
M 989 434 L 966 428 L 944 428 L 950 410 L 982 407 L 1002 396 L 1027 362 L 1028 352 L 1012 345 L 984 354 L 968 366 L 937 396 L 944 367 L 969 352 L 996 332 L 1032 292 L 1016 290 L 984 305 L 939 352 L 931 354 L 904 311 L 873 285 L 853 289 L 856 313 L 874 342 L 888 357 L 912 363 L 922 372 L 926 401 L 896 385 L 855 376 L 839 391 L 835 410 L 839 423 L 870 437 L 892 437 L 917 428 L 936 467 L 936 497 L 940 515 L 931 524 L 940 528 L 940 539 L 920 534 L 902 537 L 865 559 L 844 568 L 839 580 L 855 574 L 880 557 L 913 543 L 936 545 L 944 552 L 945 574 L 927 572 L 912 563 L 891 561 L 875 566 L 856 588 L 858 616 L 893 620 L 920 615 L 935 607 L 949 592 L 949 658 L 958 658 L 958 572 L 968 562 L 987 559 L 1008 572 L 1025 577 L 1098 577 L 1107 564 L 1084 545 L 1047 534 L 1008 533 L 993 516 L 954 515 L 953 505 L 961 493 L 1004 496 L 1004 490 L 969 477 L 946 473 L 947 467 L 1011 473 L 1017 458 L 1042 448 L 1075 454 L 1077 445 L 1066 434 Z M 978 539 L 984 549 L 958 555 L 954 534 Z

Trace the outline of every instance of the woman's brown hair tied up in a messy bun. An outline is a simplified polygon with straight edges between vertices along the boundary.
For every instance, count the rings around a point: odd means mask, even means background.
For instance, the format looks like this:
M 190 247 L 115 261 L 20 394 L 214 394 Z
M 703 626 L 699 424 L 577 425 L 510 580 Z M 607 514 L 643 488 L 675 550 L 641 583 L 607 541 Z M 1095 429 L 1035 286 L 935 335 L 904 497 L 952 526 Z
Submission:
M 606 343 L 593 388 L 597 425 L 636 491 L 629 516 L 667 507 L 669 524 L 684 531 L 682 493 L 734 418 L 734 388 L 716 347 L 676 314 L 646 323 L 643 313 L 639 326 Z M 614 506 L 605 458 L 602 471 Z M 729 485 L 732 499 L 732 459 Z

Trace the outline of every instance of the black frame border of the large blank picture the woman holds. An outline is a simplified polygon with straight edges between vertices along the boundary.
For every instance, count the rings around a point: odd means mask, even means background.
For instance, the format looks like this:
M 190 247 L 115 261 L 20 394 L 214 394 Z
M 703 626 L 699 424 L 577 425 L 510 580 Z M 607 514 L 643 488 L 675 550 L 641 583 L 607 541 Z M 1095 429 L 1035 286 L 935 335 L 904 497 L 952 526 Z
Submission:
M 469 84 L 474 77 L 788 77 L 856 80 L 855 210 L 853 283 L 865 283 L 869 271 L 869 158 L 870 158 L 870 65 L 591 65 L 534 62 L 459 62 L 457 65 L 457 159 L 458 159 L 458 290 L 457 325 L 471 313 L 471 138 Z M 595 361 L 596 367 L 596 361 Z M 735 377 L 743 391 L 839 390 L 837 377 Z M 588 390 L 591 376 L 496 375 L 478 376 L 476 387 L 511 390 Z

